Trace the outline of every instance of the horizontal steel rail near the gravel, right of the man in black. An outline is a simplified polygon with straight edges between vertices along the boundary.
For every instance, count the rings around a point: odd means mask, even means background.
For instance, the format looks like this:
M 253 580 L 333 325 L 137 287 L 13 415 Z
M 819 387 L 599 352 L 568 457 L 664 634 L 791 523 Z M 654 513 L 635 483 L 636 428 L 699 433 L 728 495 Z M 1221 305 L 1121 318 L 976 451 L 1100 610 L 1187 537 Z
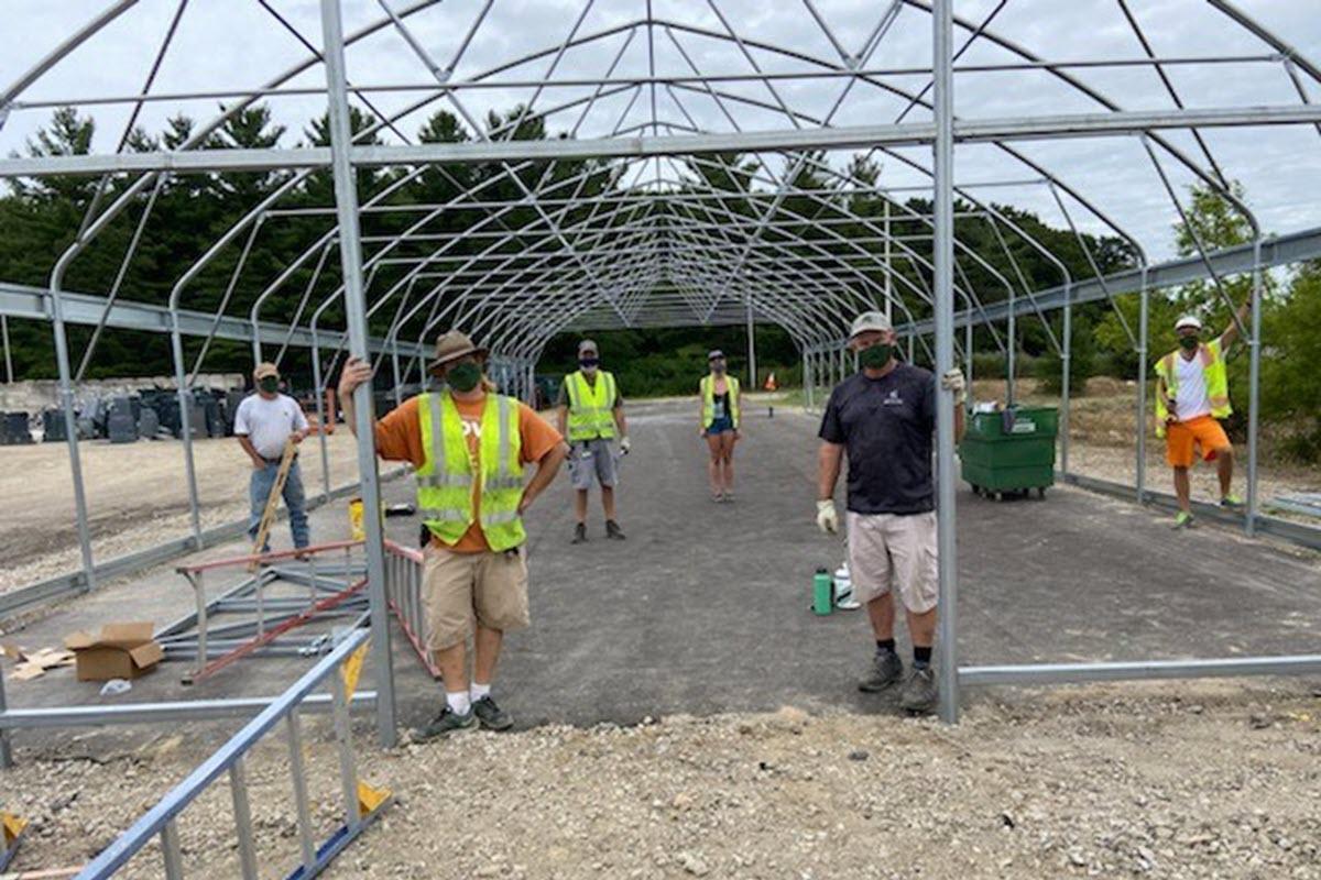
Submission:
M 1073 685 L 1098 681 L 1314 676 L 1318 673 L 1321 673 L 1321 654 L 1284 654 L 1223 660 L 959 666 L 959 685 Z

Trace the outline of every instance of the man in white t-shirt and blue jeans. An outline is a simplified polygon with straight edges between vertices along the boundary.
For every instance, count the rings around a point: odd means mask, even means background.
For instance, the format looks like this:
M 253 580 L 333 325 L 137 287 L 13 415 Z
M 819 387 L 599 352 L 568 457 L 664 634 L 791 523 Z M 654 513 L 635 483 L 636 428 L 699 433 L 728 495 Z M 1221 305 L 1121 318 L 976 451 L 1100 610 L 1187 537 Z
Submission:
M 248 536 L 256 540 L 266 512 L 267 499 L 275 488 L 275 478 L 280 472 L 280 458 L 284 445 L 292 439 L 301 443 L 308 435 L 308 417 L 303 408 L 288 394 L 280 393 L 280 371 L 272 363 L 260 363 L 252 371 L 256 393 L 248 394 L 234 414 L 234 435 L 239 446 L 252 459 L 252 478 L 248 482 L 248 503 L 251 517 Z M 301 549 L 310 544 L 308 513 L 303 493 L 303 474 L 299 472 L 299 459 L 295 454 L 289 474 L 284 479 L 284 504 L 289 508 L 289 530 L 293 533 L 293 546 Z M 266 553 L 271 548 L 262 548 Z

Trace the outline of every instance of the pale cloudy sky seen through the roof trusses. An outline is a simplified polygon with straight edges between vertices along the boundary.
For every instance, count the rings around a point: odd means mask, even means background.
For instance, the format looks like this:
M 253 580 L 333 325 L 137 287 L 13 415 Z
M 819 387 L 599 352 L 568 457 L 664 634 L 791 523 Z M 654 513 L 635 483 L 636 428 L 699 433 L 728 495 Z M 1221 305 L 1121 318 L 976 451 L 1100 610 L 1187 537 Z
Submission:
M 404 0 L 390 0 L 402 8 Z M 65 38 L 77 25 L 108 5 L 108 0 L 3 0 L 4 24 L 0 26 L 0 87 L 7 86 L 40 57 Z M 144 82 L 177 0 L 141 0 L 137 7 L 90 40 L 77 53 L 49 71 L 20 100 L 89 98 L 95 95 L 133 94 Z M 320 13 L 316 0 L 272 0 L 313 44 L 320 44 Z M 410 28 L 439 63 L 448 65 L 464 34 L 473 24 L 483 0 L 445 0 L 435 9 L 413 16 Z M 816 8 L 845 50 L 856 53 L 876 28 L 889 5 L 876 0 L 816 0 Z M 958 16 L 980 21 L 995 0 L 959 0 Z M 1264 55 L 1269 47 L 1234 25 L 1203 0 L 1131 0 L 1149 41 L 1161 57 Z M 1321 62 L 1321 16 L 1317 0 L 1239 0 L 1243 11 L 1256 17 L 1276 34 L 1292 42 L 1304 55 Z M 498 65 L 528 53 L 553 50 L 573 30 L 584 8 L 583 0 L 495 0 L 489 16 L 454 71 L 462 80 L 481 75 Z M 838 62 L 831 40 L 814 21 L 802 3 L 782 0 L 720 0 L 731 26 L 746 42 L 765 42 L 789 47 L 795 53 Z M 653 0 L 658 21 L 724 32 L 725 25 L 700 0 Z M 375 1 L 346 0 L 346 30 L 379 17 Z M 646 0 L 597 0 L 577 30 L 579 37 L 600 33 L 646 16 Z M 1140 45 L 1123 18 L 1115 0 L 1009 0 L 995 18 L 991 30 L 1024 49 L 1050 59 L 1137 58 Z M 692 62 L 707 74 L 745 74 L 750 63 L 766 71 L 803 71 L 814 69 L 803 61 L 749 46 L 752 61 L 728 40 L 716 40 L 688 30 L 674 29 L 674 36 Z M 655 65 L 660 74 L 690 74 L 687 61 L 679 54 L 664 28 L 651 34 Z M 639 29 L 625 51 L 617 77 L 645 74 L 649 66 L 649 33 Z M 955 36 L 962 45 L 967 32 Z M 568 50 L 550 77 L 551 57 L 513 67 L 503 80 L 556 80 L 573 77 L 597 77 L 605 73 L 626 40 L 614 34 Z M 306 58 L 303 47 L 283 30 L 256 0 L 192 0 L 178 34 L 168 53 L 155 92 L 223 90 L 255 87 Z M 871 67 L 923 66 L 930 57 L 930 18 L 910 7 L 901 11 L 869 59 Z M 979 41 L 960 63 L 1004 63 L 1016 59 L 1011 53 Z M 386 29 L 350 49 L 349 75 L 354 83 L 425 84 L 429 73 L 417 55 L 399 37 Z M 1170 79 L 1189 107 L 1229 107 L 1244 104 L 1296 103 L 1297 95 L 1277 62 L 1235 65 L 1189 65 L 1169 69 Z M 1078 77 L 1125 110 L 1170 107 L 1160 80 L 1149 69 L 1082 70 Z M 917 91 L 926 84 L 921 75 L 889 77 L 897 88 Z M 324 73 L 310 69 L 293 84 L 321 86 Z M 1314 100 L 1321 100 L 1321 86 L 1309 84 Z M 725 83 L 723 91 L 773 103 L 765 86 Z M 538 106 L 584 96 L 581 87 L 547 88 Z M 799 80 L 777 86 L 779 98 L 795 111 L 815 117 L 824 116 L 840 99 L 844 80 Z M 423 92 L 386 94 L 378 99 L 384 112 L 394 112 Z M 485 117 L 490 108 L 509 108 L 532 98 L 532 88 L 498 88 L 470 91 L 461 96 L 465 110 Z M 678 100 L 659 90 L 657 117 L 662 124 L 688 124 L 691 117 L 700 128 L 729 131 L 731 121 L 711 98 L 694 90 L 676 90 Z M 629 128 L 651 120 L 650 92 L 642 90 L 631 103 L 631 91 L 600 99 L 577 128 L 581 137 L 598 137 L 617 127 Z M 190 100 L 151 104 L 139 120 L 148 131 L 159 131 L 165 117 L 184 111 L 206 119 L 215 112 L 217 100 Z M 1100 107 L 1041 71 L 962 74 L 956 79 L 956 112 L 964 117 L 1000 117 L 1065 112 L 1094 112 Z M 308 119 L 322 111 L 314 96 L 272 100 L 277 119 L 289 132 L 284 144 L 293 145 L 303 137 Z M 399 121 L 412 136 L 425 116 L 443 104 L 432 104 Z M 860 125 L 894 121 L 906 102 L 875 86 L 859 84 L 848 91 L 831 117 L 831 124 Z M 453 106 L 449 106 L 454 110 Z M 627 111 L 627 112 L 626 112 Z M 127 120 L 123 107 L 92 108 L 99 124 L 98 150 L 114 149 Z M 777 111 L 729 104 L 734 123 L 745 131 L 785 128 L 786 117 Z M 581 110 L 556 113 L 552 131 L 569 131 L 580 121 Z M 16 111 L 0 129 L 0 152 L 24 150 L 32 132 L 49 119 L 49 110 Z M 929 119 L 925 108 L 915 108 L 908 121 Z M 622 121 L 621 121 L 622 120 Z M 1199 150 L 1186 133 L 1169 139 L 1190 156 Z M 1206 133 L 1217 160 L 1230 177 L 1247 187 L 1248 203 L 1268 231 L 1284 232 L 1321 224 L 1321 210 L 1314 194 L 1321 190 L 1321 136 L 1305 127 L 1273 129 L 1221 129 Z M 1020 149 L 1034 161 L 1067 181 L 1125 230 L 1139 237 L 1155 257 L 1168 256 L 1169 227 L 1176 219 L 1173 207 L 1159 177 L 1147 161 L 1136 139 L 1112 137 L 1021 144 Z M 902 154 L 929 166 L 929 149 L 905 149 Z M 847 156 L 832 156 L 843 166 Z M 1162 156 L 1176 186 L 1184 187 L 1193 178 L 1173 160 Z M 778 160 L 771 168 L 779 169 Z M 650 173 L 650 172 L 649 172 Z M 663 175 L 672 172 L 662 169 Z M 956 153 L 956 175 L 960 182 L 1020 179 L 1033 175 L 1028 169 L 992 146 L 960 146 Z M 918 186 L 926 178 L 908 170 L 894 160 L 885 161 L 882 185 Z M 1058 210 L 1042 186 L 987 189 L 975 193 L 997 202 L 1009 202 L 1036 210 L 1048 222 L 1061 223 Z M 1077 220 L 1086 228 L 1099 223 L 1075 204 Z

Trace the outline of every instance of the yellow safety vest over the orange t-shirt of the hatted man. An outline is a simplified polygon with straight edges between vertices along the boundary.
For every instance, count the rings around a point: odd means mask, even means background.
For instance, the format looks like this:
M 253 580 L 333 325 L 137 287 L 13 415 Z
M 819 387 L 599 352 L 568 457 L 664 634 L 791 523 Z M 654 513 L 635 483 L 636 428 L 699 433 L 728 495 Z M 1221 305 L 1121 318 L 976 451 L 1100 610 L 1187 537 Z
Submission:
M 476 464 L 468 453 L 464 422 L 449 392 L 417 400 L 421 447 L 427 460 L 417 468 L 417 509 L 432 534 L 453 546 L 481 513 L 482 533 L 495 553 L 527 540 L 518 505 L 523 500 L 522 435 L 518 401 L 486 394 Z M 474 488 L 474 483 L 476 487 Z

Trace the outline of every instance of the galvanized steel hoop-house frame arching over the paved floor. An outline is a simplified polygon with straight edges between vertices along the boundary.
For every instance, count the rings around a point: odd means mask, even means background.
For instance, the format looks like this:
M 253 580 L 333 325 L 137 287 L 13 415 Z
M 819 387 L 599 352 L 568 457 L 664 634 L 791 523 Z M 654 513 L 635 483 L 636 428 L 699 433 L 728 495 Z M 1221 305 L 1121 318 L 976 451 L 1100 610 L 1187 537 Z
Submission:
M 1161 34 L 1144 28 L 1131 0 L 1104 3 L 1132 37 L 1129 54 L 1086 59 L 1040 54 L 1001 30 L 1011 0 L 960 3 L 960 9 L 976 7 L 975 17 L 954 15 L 952 0 L 886 0 L 851 8 L 831 0 L 786 3 L 775 15 L 797 18 L 793 45 L 758 34 L 754 21 L 731 11 L 737 0 L 634 0 L 609 4 L 609 9 L 604 0 L 579 0 L 569 4 L 575 13 L 557 20 L 559 33 L 544 45 L 515 57 L 478 61 L 474 44 L 499 26 L 494 0 L 359 0 L 349 5 L 361 24 L 349 32 L 341 21 L 341 0 L 321 0 L 320 33 L 304 33 L 310 28 L 304 24 L 300 29 L 273 0 L 251 0 L 271 28 L 299 44 L 292 66 L 256 87 L 159 91 L 157 71 L 162 59 L 169 59 L 180 22 L 190 12 L 189 0 L 107 0 L 99 15 L 78 22 L 63 42 L 0 92 L 0 127 L 15 113 L 65 104 L 119 107 L 129 113 L 124 139 L 114 152 L 0 160 L 3 178 L 100 177 L 98 198 L 77 239 L 55 263 L 48 288 L 0 285 L 0 314 L 44 318 L 53 327 L 62 408 L 70 425 L 69 460 L 86 586 L 92 584 L 96 566 L 71 426 L 74 385 L 91 350 L 81 364 L 71 361 L 70 323 L 96 329 L 91 347 L 106 327 L 168 332 L 182 400 L 202 367 L 206 347 L 218 338 L 250 343 L 256 358 L 273 351 L 276 360 L 293 347 L 310 348 L 318 388 L 330 381 L 341 354 L 375 352 L 380 355 L 378 368 L 390 364 L 398 394 L 411 376 L 425 381 L 427 340 L 439 330 L 462 326 L 490 346 L 493 369 L 502 384 L 531 396 L 542 352 L 565 330 L 746 323 L 750 331 L 754 323 L 769 322 L 785 327 L 802 351 L 812 406 L 820 389 L 849 372 L 843 336 L 860 310 L 893 311 L 910 354 L 921 347 L 941 371 L 959 355 L 971 363 L 972 330 L 984 327 L 1009 359 L 1011 396 L 1016 322 L 1040 321 L 1065 373 L 1061 466 L 1069 478 L 1073 307 L 1114 302 L 1123 293 L 1140 294 L 1137 326 L 1124 323 L 1124 331 L 1139 363 L 1147 364 L 1152 293 L 1199 280 L 1227 298 L 1225 281 L 1230 276 L 1251 277 L 1258 306 L 1251 326 L 1243 329 L 1250 352 L 1250 416 L 1248 508 L 1242 525 L 1248 533 L 1269 530 L 1321 545 L 1317 530 L 1263 516 L 1256 497 L 1263 273 L 1321 256 L 1321 228 L 1267 239 L 1252 210 L 1234 194 L 1225 162 L 1213 150 L 1217 137 L 1227 132 L 1292 127 L 1321 133 L 1321 107 L 1310 100 L 1310 92 L 1321 86 L 1321 67 L 1230 0 L 1177 0 L 1188 13 L 1203 16 L 1232 36 L 1232 51 L 1197 55 L 1161 55 L 1155 49 L 1161 41 L 1153 40 Z M 139 5 L 159 9 L 162 4 L 173 16 L 151 49 L 155 61 L 139 90 L 30 96 L 65 59 L 92 54 L 102 30 L 128 20 Z M 1102 4 L 1095 0 L 1089 8 Z M 160 30 L 159 17 L 147 24 L 141 33 Z M 1044 24 L 1049 30 L 1053 22 Z M 506 20 L 503 26 L 518 28 L 519 22 Z M 886 51 L 904 32 L 925 34 L 922 42 L 930 53 L 908 63 L 889 62 L 913 54 Z M 394 40 L 398 55 L 420 77 L 350 82 L 346 57 L 351 59 L 359 46 L 382 38 Z M 641 63 L 631 63 L 634 57 Z M 1267 103 L 1188 99 L 1184 74 L 1206 70 L 1269 83 L 1267 92 L 1275 98 Z M 324 82 L 316 82 L 321 74 Z M 1052 112 L 955 115 L 956 83 L 1005 75 L 1030 78 L 1046 95 L 1033 107 Z M 1143 77 L 1155 88 L 1135 98 L 1132 106 L 1120 103 L 1112 96 L 1114 77 L 1120 75 Z M 1235 92 L 1229 91 L 1232 98 Z M 483 94 L 520 95 L 520 110 L 505 120 L 493 116 L 483 125 L 474 110 Z M 199 124 L 177 149 L 125 150 L 127 135 L 144 108 L 199 99 L 223 102 L 222 111 Z M 329 146 L 207 148 L 207 139 L 234 113 L 258 100 L 287 99 L 325 102 Z M 387 103 L 394 108 L 386 110 Z M 440 107 L 468 125 L 470 140 L 416 142 L 402 131 L 403 121 Z M 357 135 L 351 110 L 370 115 L 370 124 Z M 522 128 L 534 123 L 561 127 L 565 136 L 520 139 Z M 1120 223 L 1103 206 L 1102 194 L 1067 168 L 1057 168 L 1061 145 L 1095 145 L 1098 139 L 1137 146 L 1140 164 L 1160 185 L 1155 191 L 1162 202 L 1168 198 L 1169 218 L 1188 220 L 1177 186 L 1192 181 L 1231 204 L 1251 230 L 1250 244 L 1213 251 L 1194 231 L 1192 256 L 1151 259 L 1148 255 L 1159 249 L 1151 235 Z M 1053 150 L 1054 158 L 1040 156 L 1036 148 Z M 859 165 L 841 170 L 831 157 L 843 150 L 882 161 L 904 179 L 884 185 L 861 174 Z M 978 161 L 958 168 L 976 173 L 956 170 L 956 156 L 966 154 Z M 995 161 L 984 162 L 984 157 Z M 754 165 L 738 164 L 746 160 Z M 489 172 L 483 182 L 465 185 L 460 172 L 477 166 Z M 289 203 L 309 175 L 326 169 L 333 174 L 334 204 Z M 394 174 L 374 191 L 359 191 L 355 179 L 369 169 L 391 169 Z M 214 172 L 280 172 L 285 177 L 205 255 L 180 267 L 168 306 L 122 297 L 123 272 L 104 296 L 65 290 L 70 264 L 110 224 L 125 223 L 129 207 L 140 207 L 124 265 L 133 260 L 169 175 Z M 439 177 L 458 195 L 436 203 L 406 198 L 408 187 L 424 175 Z M 723 179 L 741 179 L 746 186 L 721 186 Z M 115 193 L 112 181 L 119 186 Z M 828 189 L 812 181 L 826 181 Z M 929 198 L 930 211 L 905 201 L 911 194 Z M 884 206 L 880 216 L 855 210 L 860 199 Z M 1059 255 L 1015 219 L 1004 199 L 1058 210 L 1092 272 L 1075 277 Z M 376 215 L 398 220 L 403 231 L 363 235 L 359 224 Z M 263 280 L 262 293 L 246 314 L 231 309 L 234 284 L 247 269 L 254 240 L 292 218 L 320 219 L 322 234 L 275 277 Z M 456 218 L 461 222 L 453 223 Z M 896 222 L 908 232 L 892 234 Z M 988 230 L 1003 248 L 1007 260 L 1000 267 L 960 237 L 959 230 L 972 223 Z M 1083 235 L 1096 231 L 1131 247 L 1136 265 L 1104 274 Z M 1045 259 L 1058 270 L 1058 282 L 1038 289 L 1015 261 L 1015 247 Z M 322 280 L 334 252 L 342 284 Z M 199 276 L 222 256 L 234 255 L 229 286 L 210 292 L 221 294 L 218 307 L 199 311 L 194 305 L 202 299 Z M 984 301 L 987 290 L 975 288 L 971 269 L 993 278 L 1003 298 L 996 290 L 993 301 Z M 289 289 L 305 272 L 312 280 L 295 313 L 271 314 L 267 306 L 272 296 Z M 1048 321 L 1053 311 L 1062 313 L 1062 332 Z M 342 321 L 342 327 L 328 329 L 330 321 Z M 193 363 L 184 356 L 185 336 L 202 339 L 202 354 Z M 1137 424 L 1143 425 L 1145 383 L 1137 385 Z M 1321 657 L 1313 656 L 959 668 L 952 408 L 946 392 L 942 397 L 946 405 L 941 408 L 937 458 L 945 719 L 958 718 L 960 685 L 1321 670 Z M 188 408 L 181 409 L 192 542 L 201 546 L 205 536 Z M 358 453 L 362 495 L 367 509 L 374 509 L 379 486 L 367 388 L 358 392 L 357 413 L 363 438 Z M 1123 491 L 1139 503 L 1159 500 L 1145 487 L 1141 433 L 1136 486 L 1087 483 Z M 329 492 L 324 447 L 322 470 Z M 379 736 L 391 743 L 394 687 L 382 534 L 374 517 L 367 517 L 367 546 Z

